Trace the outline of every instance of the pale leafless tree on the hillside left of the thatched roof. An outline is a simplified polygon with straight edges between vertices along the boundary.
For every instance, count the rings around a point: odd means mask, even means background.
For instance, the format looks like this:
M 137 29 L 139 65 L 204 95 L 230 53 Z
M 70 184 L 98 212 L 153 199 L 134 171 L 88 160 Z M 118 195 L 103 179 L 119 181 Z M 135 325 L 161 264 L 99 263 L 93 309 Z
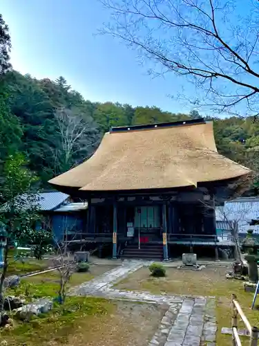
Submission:
M 59 144 L 52 152 L 55 172 L 69 170 L 78 160 L 93 152 L 99 143 L 97 125 L 90 116 L 82 116 L 79 109 L 60 108 L 55 112 Z

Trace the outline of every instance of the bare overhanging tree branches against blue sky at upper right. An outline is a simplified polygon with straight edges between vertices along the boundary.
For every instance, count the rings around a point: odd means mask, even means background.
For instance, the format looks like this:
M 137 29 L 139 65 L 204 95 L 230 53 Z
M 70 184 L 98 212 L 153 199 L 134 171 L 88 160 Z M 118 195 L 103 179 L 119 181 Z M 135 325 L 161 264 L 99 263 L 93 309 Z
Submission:
M 99 1 L 111 12 L 100 32 L 153 60 L 152 72 L 193 82 L 197 95 L 189 102 L 258 116 L 259 1 Z

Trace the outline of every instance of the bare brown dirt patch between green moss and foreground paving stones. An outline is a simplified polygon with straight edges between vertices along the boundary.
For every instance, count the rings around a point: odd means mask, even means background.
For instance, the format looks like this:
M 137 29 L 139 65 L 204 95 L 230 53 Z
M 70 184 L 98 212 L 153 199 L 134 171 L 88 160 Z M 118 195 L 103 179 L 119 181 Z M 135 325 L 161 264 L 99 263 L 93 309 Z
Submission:
M 133 302 L 117 302 L 116 304 L 117 308 L 112 315 L 105 318 L 92 318 L 86 327 L 83 323 L 75 335 L 69 338 L 66 345 L 148 345 L 148 341 L 160 325 L 166 307 Z

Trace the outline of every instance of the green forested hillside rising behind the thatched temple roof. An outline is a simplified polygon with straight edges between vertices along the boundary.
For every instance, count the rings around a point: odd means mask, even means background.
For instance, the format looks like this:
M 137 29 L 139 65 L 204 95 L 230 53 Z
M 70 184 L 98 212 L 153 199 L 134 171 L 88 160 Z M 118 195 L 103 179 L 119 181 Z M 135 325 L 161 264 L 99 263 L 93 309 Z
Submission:
M 37 80 L 8 67 L 0 69 L 0 159 L 3 163 L 8 155 L 23 153 L 30 170 L 40 178 L 41 187 L 46 187 L 52 176 L 90 156 L 111 127 L 200 116 L 198 111 L 175 114 L 155 106 L 90 102 L 71 89 L 64 77 Z M 214 120 L 219 152 L 257 170 L 258 120 L 220 119 L 216 115 L 208 119 Z

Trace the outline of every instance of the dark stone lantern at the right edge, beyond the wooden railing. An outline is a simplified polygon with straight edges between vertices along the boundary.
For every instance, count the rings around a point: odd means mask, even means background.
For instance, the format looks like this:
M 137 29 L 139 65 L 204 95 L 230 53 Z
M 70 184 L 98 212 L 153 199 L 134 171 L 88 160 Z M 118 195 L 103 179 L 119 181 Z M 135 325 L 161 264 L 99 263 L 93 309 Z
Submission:
M 247 236 L 242 241 L 242 251 L 244 251 L 244 260 L 248 264 L 248 277 L 249 282 L 256 284 L 258 282 L 258 268 L 257 262 L 259 257 L 257 255 L 258 242 L 253 237 L 253 230 L 247 230 Z

